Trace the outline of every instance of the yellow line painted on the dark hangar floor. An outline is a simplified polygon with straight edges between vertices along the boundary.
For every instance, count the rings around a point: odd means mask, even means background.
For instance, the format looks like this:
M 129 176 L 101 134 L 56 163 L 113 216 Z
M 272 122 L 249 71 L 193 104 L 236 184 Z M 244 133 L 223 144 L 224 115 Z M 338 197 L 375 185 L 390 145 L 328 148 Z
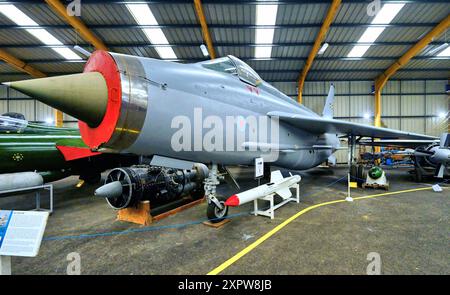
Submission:
M 382 197 L 382 196 L 390 196 L 390 195 L 397 195 L 397 194 L 403 194 L 403 193 L 424 191 L 424 190 L 430 190 L 430 189 L 432 189 L 432 188 L 431 187 L 416 188 L 416 189 L 402 190 L 402 191 L 383 193 L 383 194 L 376 194 L 376 195 L 370 195 L 370 196 L 364 196 L 364 197 L 357 197 L 357 198 L 353 198 L 353 200 L 357 201 L 357 200 L 371 199 L 371 198 Z M 289 223 L 291 223 L 292 221 L 294 221 L 295 219 L 297 219 L 301 215 L 305 214 L 306 212 L 309 212 L 309 211 L 311 211 L 313 209 L 316 209 L 316 208 L 319 208 L 319 207 L 332 205 L 332 204 L 337 204 L 337 203 L 343 203 L 343 202 L 346 202 L 346 201 L 345 200 L 329 201 L 329 202 L 324 202 L 324 203 L 320 203 L 320 204 L 317 204 L 317 205 L 313 205 L 313 206 L 310 206 L 310 207 L 307 207 L 307 208 L 301 210 L 300 212 L 294 214 L 293 216 L 289 217 L 288 219 L 286 219 L 285 221 L 283 221 L 282 223 L 277 225 L 271 231 L 266 233 L 264 236 L 262 236 L 261 238 L 259 238 L 258 240 L 256 240 L 255 242 L 253 242 L 252 244 L 247 246 L 246 248 L 244 248 L 242 251 L 240 251 L 239 253 L 237 253 L 236 255 L 234 255 L 233 257 L 231 257 L 230 259 L 228 259 L 227 261 L 225 261 L 224 263 L 222 263 L 221 265 L 219 265 L 218 267 L 216 267 L 215 269 L 210 271 L 208 273 L 208 275 L 217 275 L 217 274 L 221 273 L 222 271 L 224 271 L 225 269 L 230 267 L 233 263 L 235 263 L 236 261 L 241 259 L 244 255 L 246 255 L 250 251 L 254 250 L 256 247 L 258 247 L 259 245 L 264 243 L 266 240 L 268 240 L 270 237 L 272 237 L 274 234 L 276 234 L 278 231 L 280 231 L 286 225 L 288 225 Z

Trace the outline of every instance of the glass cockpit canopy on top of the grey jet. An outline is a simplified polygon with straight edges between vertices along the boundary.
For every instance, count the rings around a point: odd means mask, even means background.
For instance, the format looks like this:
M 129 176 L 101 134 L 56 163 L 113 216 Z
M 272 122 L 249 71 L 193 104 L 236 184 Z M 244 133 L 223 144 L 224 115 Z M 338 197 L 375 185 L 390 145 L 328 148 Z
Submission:
M 201 62 L 200 64 L 202 67 L 216 72 L 237 75 L 241 81 L 253 86 L 258 86 L 262 82 L 261 77 L 248 64 L 232 55 Z

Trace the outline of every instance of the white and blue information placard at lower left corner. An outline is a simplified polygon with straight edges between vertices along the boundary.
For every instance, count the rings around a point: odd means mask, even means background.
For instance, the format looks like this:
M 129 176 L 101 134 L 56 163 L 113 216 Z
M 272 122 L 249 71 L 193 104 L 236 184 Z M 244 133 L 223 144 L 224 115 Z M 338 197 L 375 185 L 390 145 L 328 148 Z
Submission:
M 0 210 L 0 256 L 37 256 L 48 215 L 48 212 Z

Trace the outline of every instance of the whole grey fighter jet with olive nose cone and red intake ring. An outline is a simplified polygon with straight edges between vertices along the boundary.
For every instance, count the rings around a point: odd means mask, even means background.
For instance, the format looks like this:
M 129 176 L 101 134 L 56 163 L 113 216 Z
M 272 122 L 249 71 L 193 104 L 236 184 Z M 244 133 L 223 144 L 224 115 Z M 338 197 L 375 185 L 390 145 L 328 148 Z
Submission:
M 432 136 L 333 119 L 334 88 L 322 115 L 284 95 L 234 56 L 194 64 L 94 52 L 83 73 L 6 83 L 79 119 L 92 150 L 151 156 L 151 164 L 210 165 L 208 217 L 227 214 L 216 196 L 218 165 L 263 157 L 294 170 L 315 167 L 339 148 L 339 135 L 434 140 Z M 125 191 L 125 190 L 124 190 Z M 115 190 L 111 198 L 132 198 Z

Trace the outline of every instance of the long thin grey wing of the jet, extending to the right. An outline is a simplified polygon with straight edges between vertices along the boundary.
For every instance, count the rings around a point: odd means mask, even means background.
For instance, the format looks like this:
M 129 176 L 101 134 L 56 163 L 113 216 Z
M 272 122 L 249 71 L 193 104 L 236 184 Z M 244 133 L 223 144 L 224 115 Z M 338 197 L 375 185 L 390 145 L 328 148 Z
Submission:
M 307 117 L 287 112 L 269 112 L 267 115 L 269 117 L 279 117 L 281 122 L 289 123 L 297 128 L 316 134 L 333 133 L 385 139 L 436 139 L 436 137 L 418 133 L 373 127 L 323 117 Z

